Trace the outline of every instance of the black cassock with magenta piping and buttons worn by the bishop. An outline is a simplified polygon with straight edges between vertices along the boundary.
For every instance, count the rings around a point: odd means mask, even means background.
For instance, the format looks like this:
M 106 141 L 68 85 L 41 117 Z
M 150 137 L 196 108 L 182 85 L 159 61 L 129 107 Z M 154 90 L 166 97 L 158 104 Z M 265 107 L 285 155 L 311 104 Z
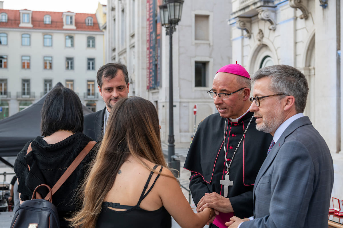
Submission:
M 243 68 L 240 65 L 239 67 Z M 237 73 L 234 74 L 237 75 Z M 216 192 L 224 196 L 224 186 L 220 184 L 220 181 L 225 179 L 227 170 L 224 156 L 226 120 L 226 157 L 228 164 L 232 160 L 229 179 L 233 182 L 232 186 L 228 186 L 227 198 L 233 207 L 234 215 L 246 218 L 253 215 L 253 185 L 267 156 L 272 136 L 256 130 L 255 118 L 248 108 L 242 114 L 244 115 L 234 121 L 221 117 L 220 113 L 212 114 L 204 119 L 194 135 L 184 168 L 191 171 L 189 188 L 196 205 L 206 192 Z M 253 119 L 248 130 L 233 157 L 251 118 Z M 217 226 L 212 224 L 210 227 Z

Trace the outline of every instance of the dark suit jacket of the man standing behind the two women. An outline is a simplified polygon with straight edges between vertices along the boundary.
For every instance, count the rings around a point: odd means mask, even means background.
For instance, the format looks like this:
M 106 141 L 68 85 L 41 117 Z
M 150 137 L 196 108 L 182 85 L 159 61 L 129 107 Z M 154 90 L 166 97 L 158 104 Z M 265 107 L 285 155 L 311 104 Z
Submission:
M 103 138 L 104 116 L 106 106 L 103 110 L 93 112 L 84 116 L 83 134 L 98 142 Z

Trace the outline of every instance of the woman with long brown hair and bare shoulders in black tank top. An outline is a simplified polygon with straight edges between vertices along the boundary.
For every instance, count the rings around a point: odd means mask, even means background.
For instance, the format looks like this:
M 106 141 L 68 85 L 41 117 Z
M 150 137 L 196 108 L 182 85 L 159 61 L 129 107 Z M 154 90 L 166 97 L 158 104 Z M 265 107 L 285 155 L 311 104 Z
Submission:
M 73 227 L 204 227 L 208 207 L 194 213 L 165 162 L 155 106 L 121 98 L 111 110 L 104 139 L 81 191 L 83 208 Z

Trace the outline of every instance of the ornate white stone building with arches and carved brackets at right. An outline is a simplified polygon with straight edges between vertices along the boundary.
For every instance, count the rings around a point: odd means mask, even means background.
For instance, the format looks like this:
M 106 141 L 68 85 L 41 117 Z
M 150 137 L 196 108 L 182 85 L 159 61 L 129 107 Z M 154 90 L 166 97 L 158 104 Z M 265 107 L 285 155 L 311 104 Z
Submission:
M 342 3 L 325 0 L 233 0 L 232 57 L 250 73 L 286 64 L 309 82 L 305 115 L 327 142 L 334 161 L 332 196 L 343 199 Z

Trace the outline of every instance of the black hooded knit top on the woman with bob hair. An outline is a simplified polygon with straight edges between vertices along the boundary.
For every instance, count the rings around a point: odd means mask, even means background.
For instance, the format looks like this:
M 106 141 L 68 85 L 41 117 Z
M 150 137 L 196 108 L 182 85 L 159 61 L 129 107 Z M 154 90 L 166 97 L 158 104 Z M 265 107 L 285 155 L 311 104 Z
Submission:
M 32 152 L 26 155 L 31 141 L 28 142 L 23 150 L 18 153 L 14 163 L 14 172 L 19 181 L 18 192 L 21 193 L 20 199 L 31 199 L 34 189 L 40 184 L 47 184 L 52 188 L 76 156 L 91 140 L 90 137 L 81 132 L 76 132 L 56 144 L 47 144 L 41 136 L 37 136 L 31 144 Z M 89 169 L 89 163 L 94 158 L 97 147 L 98 144 L 93 147 L 52 196 L 52 203 L 57 207 L 61 227 L 66 227 L 67 225 L 63 217 L 70 217 L 70 212 L 78 209 L 75 207 L 76 190 L 85 177 L 85 171 Z M 30 166 L 30 171 L 27 165 Z M 44 198 L 48 190 L 41 187 L 38 189 L 38 192 Z

